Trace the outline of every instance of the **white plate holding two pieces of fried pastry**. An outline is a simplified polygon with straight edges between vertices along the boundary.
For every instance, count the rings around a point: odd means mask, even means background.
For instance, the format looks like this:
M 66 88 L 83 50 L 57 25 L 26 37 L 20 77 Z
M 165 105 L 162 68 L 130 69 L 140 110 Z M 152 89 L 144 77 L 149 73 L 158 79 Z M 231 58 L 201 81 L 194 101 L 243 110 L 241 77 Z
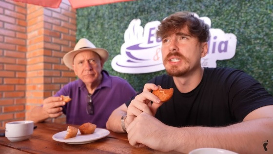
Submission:
M 76 137 L 64 139 L 64 137 L 66 136 L 66 133 L 67 131 L 56 133 L 53 135 L 52 138 L 56 141 L 65 142 L 68 144 L 85 144 L 85 143 L 94 142 L 110 134 L 110 132 L 106 129 L 96 128 L 93 134 L 81 135 L 80 132 L 78 131 L 78 134 Z

